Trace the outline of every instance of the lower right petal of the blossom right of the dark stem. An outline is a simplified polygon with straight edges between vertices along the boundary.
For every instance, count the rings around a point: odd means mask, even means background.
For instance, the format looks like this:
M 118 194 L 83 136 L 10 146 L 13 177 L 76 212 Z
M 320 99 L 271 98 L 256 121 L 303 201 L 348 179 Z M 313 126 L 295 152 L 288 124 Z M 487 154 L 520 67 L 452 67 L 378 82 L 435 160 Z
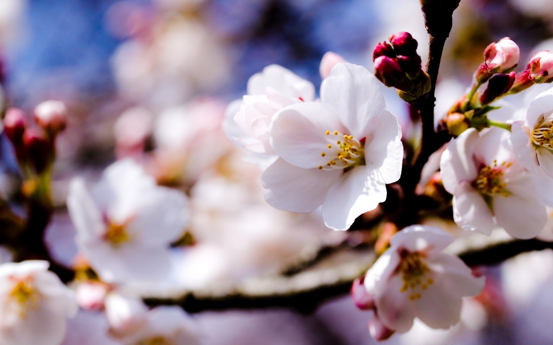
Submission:
M 547 211 L 542 200 L 536 197 L 534 184 L 529 178 L 507 183 L 508 197 L 493 198 L 493 211 L 498 224 L 515 238 L 533 238 L 545 226 Z

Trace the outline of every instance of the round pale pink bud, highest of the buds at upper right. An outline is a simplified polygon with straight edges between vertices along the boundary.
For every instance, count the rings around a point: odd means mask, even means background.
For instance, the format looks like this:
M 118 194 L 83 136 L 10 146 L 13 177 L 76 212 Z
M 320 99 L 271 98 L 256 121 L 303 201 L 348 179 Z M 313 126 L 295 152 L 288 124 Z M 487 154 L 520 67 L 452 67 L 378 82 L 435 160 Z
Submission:
M 505 73 L 517 67 L 520 49 L 508 37 L 492 43 L 484 50 L 484 63 L 492 73 Z

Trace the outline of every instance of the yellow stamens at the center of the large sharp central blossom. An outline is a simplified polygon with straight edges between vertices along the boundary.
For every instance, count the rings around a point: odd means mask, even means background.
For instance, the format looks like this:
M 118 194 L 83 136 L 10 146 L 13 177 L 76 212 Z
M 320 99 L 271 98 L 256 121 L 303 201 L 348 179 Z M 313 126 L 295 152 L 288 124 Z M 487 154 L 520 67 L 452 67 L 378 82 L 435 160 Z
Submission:
M 357 140 L 353 135 L 346 135 L 338 131 L 326 131 L 328 145 L 325 151 L 321 152 L 322 157 L 328 157 L 325 165 L 319 169 L 347 169 L 365 164 L 363 153 L 364 139 Z

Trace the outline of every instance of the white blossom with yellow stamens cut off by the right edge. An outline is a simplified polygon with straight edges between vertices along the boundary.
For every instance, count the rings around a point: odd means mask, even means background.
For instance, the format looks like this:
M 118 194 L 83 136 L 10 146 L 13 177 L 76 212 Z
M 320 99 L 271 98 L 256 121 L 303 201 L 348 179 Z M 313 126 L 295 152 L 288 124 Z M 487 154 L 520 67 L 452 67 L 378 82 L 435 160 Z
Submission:
M 514 121 L 509 145 L 523 166 L 553 178 L 553 88 L 538 95 L 523 121 Z

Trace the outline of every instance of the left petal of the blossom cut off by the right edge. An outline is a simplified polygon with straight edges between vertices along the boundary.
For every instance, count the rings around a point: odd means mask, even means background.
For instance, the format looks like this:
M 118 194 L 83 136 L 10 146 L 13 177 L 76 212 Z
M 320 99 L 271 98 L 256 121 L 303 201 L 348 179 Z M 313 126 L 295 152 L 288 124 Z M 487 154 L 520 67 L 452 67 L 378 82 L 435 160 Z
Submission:
M 530 141 L 530 129 L 523 121 L 513 122 L 509 146 L 513 150 L 515 156 L 517 156 L 519 162 L 523 164 L 526 169 L 533 172 L 535 175 L 539 175 L 540 166 L 538 158 L 536 158 L 536 151 Z

